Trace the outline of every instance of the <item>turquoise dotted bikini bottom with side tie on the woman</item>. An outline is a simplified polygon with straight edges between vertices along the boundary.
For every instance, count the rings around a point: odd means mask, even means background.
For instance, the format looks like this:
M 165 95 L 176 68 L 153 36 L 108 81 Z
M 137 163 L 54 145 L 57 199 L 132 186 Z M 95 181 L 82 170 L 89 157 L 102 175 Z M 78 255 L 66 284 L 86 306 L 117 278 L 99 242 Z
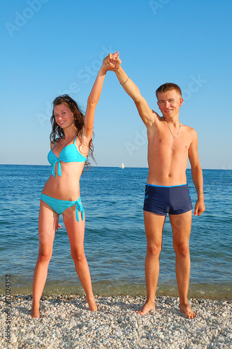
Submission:
M 75 205 L 75 216 L 79 222 L 79 211 L 81 212 L 82 221 L 84 219 L 84 208 L 81 203 L 81 199 L 79 198 L 76 201 L 68 201 L 68 200 L 59 200 L 55 198 L 51 198 L 48 195 L 41 193 L 41 200 L 46 202 L 51 209 L 53 209 L 57 214 L 62 214 L 66 209 Z

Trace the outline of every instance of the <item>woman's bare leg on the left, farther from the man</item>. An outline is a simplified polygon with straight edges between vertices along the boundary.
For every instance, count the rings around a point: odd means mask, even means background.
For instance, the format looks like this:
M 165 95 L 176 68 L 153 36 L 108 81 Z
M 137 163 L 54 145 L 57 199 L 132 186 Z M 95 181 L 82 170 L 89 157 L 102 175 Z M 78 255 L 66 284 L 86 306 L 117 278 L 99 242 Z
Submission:
M 38 215 L 38 260 L 33 279 L 32 318 L 40 317 L 40 300 L 48 275 L 48 265 L 52 257 L 52 246 L 58 221 L 59 215 L 53 211 L 48 204 L 41 200 L 41 207 Z

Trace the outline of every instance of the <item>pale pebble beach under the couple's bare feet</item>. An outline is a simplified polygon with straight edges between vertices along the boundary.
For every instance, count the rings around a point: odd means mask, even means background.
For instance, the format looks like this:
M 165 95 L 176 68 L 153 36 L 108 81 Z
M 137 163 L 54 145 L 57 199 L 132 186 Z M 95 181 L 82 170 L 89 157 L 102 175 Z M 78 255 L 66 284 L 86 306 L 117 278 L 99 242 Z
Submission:
M 177 297 L 158 296 L 156 311 L 135 311 L 145 297 L 97 297 L 91 312 L 80 295 L 41 299 L 41 318 L 31 318 L 31 295 L 1 295 L 1 348 L 230 348 L 232 301 L 189 299 L 197 315 L 187 319 Z M 6 338 L 6 321 L 10 323 Z M 9 337 L 8 337 L 9 338 Z

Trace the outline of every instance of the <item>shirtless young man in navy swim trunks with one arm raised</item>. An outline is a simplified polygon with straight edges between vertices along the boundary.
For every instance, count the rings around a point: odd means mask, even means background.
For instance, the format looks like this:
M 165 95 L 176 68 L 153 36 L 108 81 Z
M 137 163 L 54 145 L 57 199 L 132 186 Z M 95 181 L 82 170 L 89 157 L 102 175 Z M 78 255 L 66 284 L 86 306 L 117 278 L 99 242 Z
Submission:
M 179 112 L 183 103 L 180 87 L 167 83 L 157 89 L 157 105 L 162 116 L 150 109 L 138 87 L 121 67 L 118 55 L 109 54 L 103 61 L 112 65 L 117 78 L 133 101 L 147 127 L 149 172 L 145 188 L 144 223 L 147 237 L 145 278 L 147 302 L 140 315 L 155 309 L 155 295 L 159 278 L 159 254 L 166 214 L 169 214 L 173 230 L 175 271 L 180 295 L 180 311 L 187 318 L 196 314 L 187 299 L 190 275 L 189 236 L 191 231 L 191 198 L 187 186 L 187 159 L 191 164 L 191 176 L 196 187 L 198 200 L 194 215 L 205 211 L 203 198 L 203 175 L 198 158 L 196 131 L 180 124 Z M 116 68 L 114 68 L 116 66 Z

